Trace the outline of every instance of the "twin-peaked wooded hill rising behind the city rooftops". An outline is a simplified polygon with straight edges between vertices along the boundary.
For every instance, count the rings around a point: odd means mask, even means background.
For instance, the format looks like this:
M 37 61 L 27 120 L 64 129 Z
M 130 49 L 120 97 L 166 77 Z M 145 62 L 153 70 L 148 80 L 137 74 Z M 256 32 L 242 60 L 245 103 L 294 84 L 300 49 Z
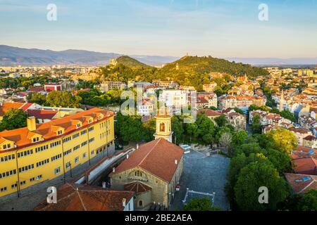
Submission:
M 173 80 L 181 85 L 194 86 L 197 90 L 202 89 L 203 84 L 210 82 L 211 72 L 222 72 L 240 77 L 247 75 L 253 79 L 258 76 L 266 76 L 268 72 L 251 65 L 230 62 L 211 56 L 184 56 L 173 63 L 166 64 L 157 69 L 144 63 L 122 56 L 117 59 L 116 66 L 108 65 L 103 68 L 105 79 L 128 82 L 128 80 L 151 82 L 153 79 Z

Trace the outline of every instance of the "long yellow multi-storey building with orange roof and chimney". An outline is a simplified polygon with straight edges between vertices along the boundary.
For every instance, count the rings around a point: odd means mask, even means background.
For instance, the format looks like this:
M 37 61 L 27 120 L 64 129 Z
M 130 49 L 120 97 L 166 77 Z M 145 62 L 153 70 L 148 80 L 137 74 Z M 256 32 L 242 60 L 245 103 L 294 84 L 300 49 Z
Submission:
M 93 108 L 0 132 L 0 197 L 69 176 L 72 169 L 114 152 L 114 114 Z M 97 157 L 98 155 L 98 157 Z

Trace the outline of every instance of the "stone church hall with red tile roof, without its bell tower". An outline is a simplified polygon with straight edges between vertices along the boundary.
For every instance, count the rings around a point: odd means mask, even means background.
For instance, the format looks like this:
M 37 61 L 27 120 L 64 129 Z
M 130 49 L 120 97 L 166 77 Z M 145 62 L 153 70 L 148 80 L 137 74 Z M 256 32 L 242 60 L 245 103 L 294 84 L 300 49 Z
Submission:
M 184 150 L 158 138 L 140 146 L 109 174 L 111 189 L 135 192 L 135 210 L 168 208 L 182 175 Z

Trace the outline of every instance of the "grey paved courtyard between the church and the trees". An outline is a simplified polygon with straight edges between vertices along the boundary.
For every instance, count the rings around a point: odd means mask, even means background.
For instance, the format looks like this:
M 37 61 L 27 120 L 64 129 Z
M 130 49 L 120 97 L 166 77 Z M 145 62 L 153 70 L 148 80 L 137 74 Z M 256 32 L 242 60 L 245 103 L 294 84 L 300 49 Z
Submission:
M 204 153 L 191 150 L 184 155 L 183 174 L 180 179 L 180 191 L 176 191 L 170 210 L 181 209 L 187 188 L 189 191 L 215 193 L 216 207 L 229 210 L 229 203 L 225 196 L 224 187 L 226 174 L 230 163 L 229 158 L 222 155 L 206 157 Z M 206 195 L 207 198 L 210 196 Z M 188 198 L 187 198 L 188 200 Z

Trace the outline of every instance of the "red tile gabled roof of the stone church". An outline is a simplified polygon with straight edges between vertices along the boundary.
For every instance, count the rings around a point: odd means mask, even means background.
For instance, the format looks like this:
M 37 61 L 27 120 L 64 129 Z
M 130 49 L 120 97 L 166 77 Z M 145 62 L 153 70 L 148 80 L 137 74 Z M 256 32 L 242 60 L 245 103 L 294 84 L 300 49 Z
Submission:
M 166 139 L 156 139 L 140 146 L 139 149 L 131 153 L 129 158 L 121 162 L 116 167 L 116 171 L 111 172 L 109 176 L 140 167 L 169 183 L 180 160 L 182 160 L 183 153 L 182 148 L 166 141 Z M 178 162 L 177 165 L 175 160 Z

